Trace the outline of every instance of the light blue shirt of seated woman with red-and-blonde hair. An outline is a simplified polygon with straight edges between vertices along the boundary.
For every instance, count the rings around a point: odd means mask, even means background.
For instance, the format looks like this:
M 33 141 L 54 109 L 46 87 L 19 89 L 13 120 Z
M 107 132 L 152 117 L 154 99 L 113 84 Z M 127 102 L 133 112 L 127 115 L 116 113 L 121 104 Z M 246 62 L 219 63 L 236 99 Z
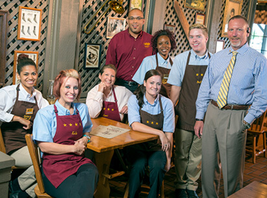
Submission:
M 58 115 L 70 115 L 70 110 L 63 107 L 58 101 L 55 103 Z M 88 108 L 83 103 L 72 103 L 74 108 L 74 114 L 77 114 L 76 109 L 79 110 L 79 114 L 83 123 L 83 133 L 90 132 L 93 124 L 90 119 Z M 33 124 L 33 139 L 42 142 L 53 142 L 53 137 L 57 130 L 57 118 L 54 111 L 54 105 L 49 105 L 43 109 L 40 109 L 34 119 Z

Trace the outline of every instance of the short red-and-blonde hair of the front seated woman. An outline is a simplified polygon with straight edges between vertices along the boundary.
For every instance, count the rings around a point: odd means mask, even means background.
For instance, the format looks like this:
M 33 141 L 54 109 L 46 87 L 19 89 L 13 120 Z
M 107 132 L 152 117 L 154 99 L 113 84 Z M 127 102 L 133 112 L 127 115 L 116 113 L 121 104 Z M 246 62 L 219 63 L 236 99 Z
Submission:
M 81 76 L 79 75 L 78 71 L 76 71 L 75 69 L 66 69 L 66 70 L 61 70 L 59 72 L 59 75 L 57 75 L 57 77 L 55 78 L 55 82 L 54 82 L 54 87 L 53 87 L 53 94 L 55 95 L 56 98 L 60 98 L 60 88 L 63 84 L 63 79 L 67 77 L 67 78 L 75 78 L 78 80 L 78 88 L 79 88 L 79 93 L 76 97 L 77 100 L 79 100 L 80 95 L 81 95 Z

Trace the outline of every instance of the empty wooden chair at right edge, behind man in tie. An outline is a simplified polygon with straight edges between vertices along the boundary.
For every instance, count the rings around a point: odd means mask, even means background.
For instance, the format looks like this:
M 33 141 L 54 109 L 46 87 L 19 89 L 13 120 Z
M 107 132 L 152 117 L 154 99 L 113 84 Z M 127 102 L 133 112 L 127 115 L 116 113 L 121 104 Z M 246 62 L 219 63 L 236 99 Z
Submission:
M 267 158 L 266 153 L 266 132 L 267 127 L 264 126 L 266 124 L 266 111 L 257 118 L 252 124 L 251 128 L 247 130 L 247 145 L 246 152 L 252 153 L 252 161 L 256 163 L 256 156 L 264 153 L 264 157 Z M 259 143 L 259 137 L 262 136 L 262 143 Z

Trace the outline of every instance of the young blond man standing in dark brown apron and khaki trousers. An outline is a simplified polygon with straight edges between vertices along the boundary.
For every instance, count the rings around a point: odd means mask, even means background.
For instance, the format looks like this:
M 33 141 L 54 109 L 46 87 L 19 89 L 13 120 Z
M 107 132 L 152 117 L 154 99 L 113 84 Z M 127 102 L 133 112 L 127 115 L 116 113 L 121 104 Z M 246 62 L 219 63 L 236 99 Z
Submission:
M 201 173 L 201 139 L 194 134 L 195 102 L 198 89 L 209 63 L 206 48 L 208 31 L 202 24 L 189 27 L 191 50 L 174 59 L 168 83 L 172 84 L 170 99 L 176 106 L 178 122 L 175 130 L 176 197 L 198 197 L 197 179 Z

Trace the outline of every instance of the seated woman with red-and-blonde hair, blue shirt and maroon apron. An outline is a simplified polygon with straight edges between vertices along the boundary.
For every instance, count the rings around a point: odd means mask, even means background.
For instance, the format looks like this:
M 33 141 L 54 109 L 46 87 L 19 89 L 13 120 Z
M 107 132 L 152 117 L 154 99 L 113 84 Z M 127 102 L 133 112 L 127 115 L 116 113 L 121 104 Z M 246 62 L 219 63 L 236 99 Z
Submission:
M 45 192 L 53 197 L 93 197 L 97 167 L 84 157 L 93 124 L 88 108 L 74 103 L 81 94 L 80 75 L 74 69 L 57 75 L 55 105 L 36 114 L 33 139 L 43 152 L 41 173 Z

